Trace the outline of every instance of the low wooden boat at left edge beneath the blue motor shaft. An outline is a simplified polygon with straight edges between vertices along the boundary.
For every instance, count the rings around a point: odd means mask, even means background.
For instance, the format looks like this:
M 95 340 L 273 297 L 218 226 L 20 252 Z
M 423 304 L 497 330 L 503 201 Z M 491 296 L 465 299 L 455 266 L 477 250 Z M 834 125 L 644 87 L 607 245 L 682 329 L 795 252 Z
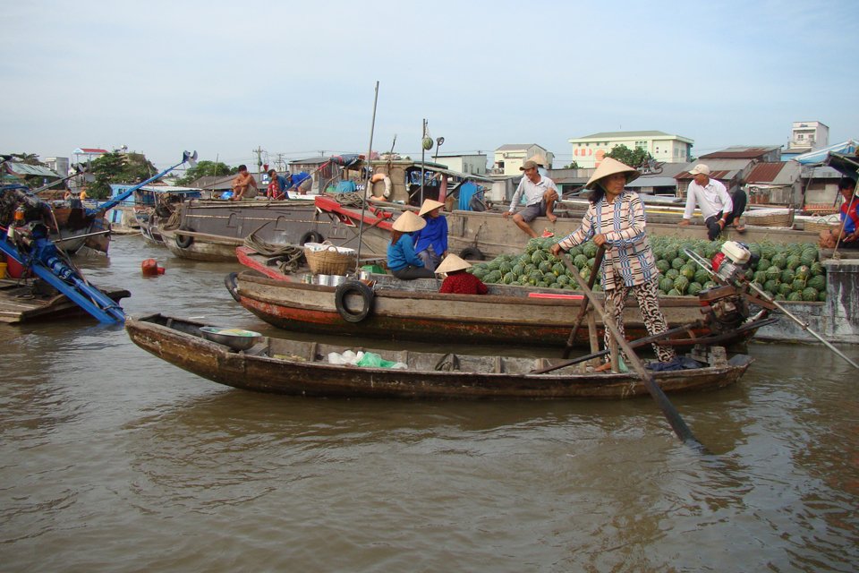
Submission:
M 124 289 L 103 292 L 114 302 L 131 296 Z M 87 313 L 68 296 L 41 281 L 22 283 L 19 279 L 0 279 L 0 322 L 55 321 L 72 316 L 87 316 Z

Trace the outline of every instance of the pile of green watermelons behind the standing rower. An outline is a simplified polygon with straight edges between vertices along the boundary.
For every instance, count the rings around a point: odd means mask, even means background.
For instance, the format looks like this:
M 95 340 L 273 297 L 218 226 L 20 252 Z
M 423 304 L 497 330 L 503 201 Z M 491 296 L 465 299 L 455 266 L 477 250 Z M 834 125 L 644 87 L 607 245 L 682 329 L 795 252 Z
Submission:
M 723 241 L 662 235 L 651 236 L 649 240 L 659 269 L 659 295 L 696 296 L 703 289 L 717 285 L 710 273 L 685 251 L 710 261 L 721 251 Z M 492 261 L 472 266 L 469 272 L 487 284 L 576 290 L 578 285 L 570 274 L 571 270 L 550 252 L 556 242 L 554 237 L 531 239 L 524 252 L 499 255 Z M 759 255 L 760 260 L 746 270 L 746 278 L 775 300 L 812 302 L 826 299 L 826 273 L 816 245 L 764 242 L 749 244 L 748 248 Z M 596 254 L 597 245 L 589 241 L 574 247 L 566 256 L 574 263 L 579 275 L 588 280 Z M 600 290 L 600 276 L 594 290 Z

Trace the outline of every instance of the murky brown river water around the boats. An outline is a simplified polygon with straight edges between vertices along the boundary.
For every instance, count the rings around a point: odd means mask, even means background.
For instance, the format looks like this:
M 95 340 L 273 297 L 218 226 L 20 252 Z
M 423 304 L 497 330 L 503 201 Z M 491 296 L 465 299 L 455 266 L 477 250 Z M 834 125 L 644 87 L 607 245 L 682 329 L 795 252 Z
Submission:
M 226 292 L 236 265 L 115 236 L 81 267 L 132 315 L 276 333 Z M 701 455 L 649 398 L 268 396 L 118 327 L 0 325 L 0 570 L 855 571 L 857 372 L 750 354 L 735 387 L 672 398 Z

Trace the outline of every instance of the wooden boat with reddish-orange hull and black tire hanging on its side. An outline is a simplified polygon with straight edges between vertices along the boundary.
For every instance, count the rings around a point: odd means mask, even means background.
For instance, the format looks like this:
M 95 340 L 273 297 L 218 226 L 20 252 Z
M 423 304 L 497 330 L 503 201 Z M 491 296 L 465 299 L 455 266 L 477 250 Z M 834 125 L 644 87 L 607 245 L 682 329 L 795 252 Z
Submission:
M 464 344 L 564 346 L 583 304 L 583 295 L 553 289 L 490 285 L 489 295 L 451 295 L 438 293 L 440 281 L 435 278 L 372 277 L 377 279 L 373 287 L 354 280 L 324 286 L 246 270 L 228 276 L 226 286 L 244 308 L 280 329 Z M 707 310 L 698 298 L 670 296 L 660 305 L 669 327 L 695 325 L 678 334 L 671 343 L 675 345 L 742 344 L 761 324 L 716 333 L 698 324 L 702 309 Z M 647 336 L 634 302 L 626 305 L 624 322 L 627 338 Z M 594 326 L 601 337 L 601 321 L 595 320 Z M 574 343 L 591 345 L 587 328 L 579 329 Z

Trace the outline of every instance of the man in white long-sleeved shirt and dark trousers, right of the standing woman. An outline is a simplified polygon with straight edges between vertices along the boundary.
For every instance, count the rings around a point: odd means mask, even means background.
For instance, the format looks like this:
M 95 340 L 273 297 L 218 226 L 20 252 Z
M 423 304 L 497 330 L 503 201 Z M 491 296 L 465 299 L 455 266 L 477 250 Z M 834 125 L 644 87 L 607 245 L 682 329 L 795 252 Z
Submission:
M 701 209 L 704 225 L 707 226 L 707 238 L 712 241 L 722 232 L 722 229 L 732 222 L 738 233 L 743 233 L 745 227 L 740 225 L 740 216 L 745 210 L 745 193 L 737 191 L 732 197 L 727 193 L 725 185 L 710 179 L 710 167 L 700 163 L 692 171 L 694 180 L 686 192 L 686 210 L 683 220 L 678 223 L 681 227 L 689 225 L 689 219 L 695 210 L 695 204 Z

